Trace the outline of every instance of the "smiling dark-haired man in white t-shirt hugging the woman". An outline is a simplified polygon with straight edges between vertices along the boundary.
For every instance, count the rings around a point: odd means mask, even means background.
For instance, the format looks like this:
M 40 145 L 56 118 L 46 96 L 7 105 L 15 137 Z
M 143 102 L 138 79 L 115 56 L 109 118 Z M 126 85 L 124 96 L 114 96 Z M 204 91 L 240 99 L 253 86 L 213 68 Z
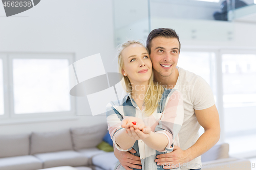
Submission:
M 181 91 L 184 100 L 184 121 L 179 132 L 180 148 L 174 146 L 173 152 L 158 155 L 155 162 L 170 165 L 164 169 L 170 169 L 172 165 L 182 169 L 200 169 L 200 155 L 213 147 L 220 138 L 219 114 L 212 91 L 201 77 L 176 67 L 181 45 L 174 30 L 153 30 L 147 37 L 146 46 L 150 52 L 155 80 L 167 88 Z M 205 132 L 199 137 L 200 126 Z M 130 152 L 135 153 L 135 150 Z M 126 170 L 140 169 L 140 157 L 130 152 L 114 149 L 115 156 Z

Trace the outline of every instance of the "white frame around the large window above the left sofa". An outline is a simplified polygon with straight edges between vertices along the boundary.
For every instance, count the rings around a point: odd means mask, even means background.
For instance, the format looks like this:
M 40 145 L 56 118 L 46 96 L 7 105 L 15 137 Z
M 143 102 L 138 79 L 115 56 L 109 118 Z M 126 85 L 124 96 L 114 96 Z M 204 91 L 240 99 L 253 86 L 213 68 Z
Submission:
M 74 53 L 0 53 L 6 55 L 4 65 L 4 86 L 8 94 L 4 95 L 5 113 L 0 116 L 0 124 L 27 123 L 37 121 L 61 120 L 76 117 L 76 98 L 70 95 L 70 111 L 61 112 L 41 112 L 41 113 L 14 113 L 14 93 L 13 93 L 13 59 L 68 59 L 69 65 L 74 63 Z M 2 58 L 2 57 L 1 57 Z M 5 64 L 4 64 L 5 63 Z M 67 67 L 68 69 L 68 67 Z M 70 75 L 69 75 L 70 76 Z M 4 122 L 2 121 L 4 120 Z

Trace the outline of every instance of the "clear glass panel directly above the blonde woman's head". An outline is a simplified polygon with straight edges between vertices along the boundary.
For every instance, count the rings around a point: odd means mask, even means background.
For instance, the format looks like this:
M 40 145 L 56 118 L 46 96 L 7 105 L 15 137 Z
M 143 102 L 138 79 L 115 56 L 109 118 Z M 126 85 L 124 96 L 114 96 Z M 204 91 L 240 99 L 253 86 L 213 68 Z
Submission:
M 127 40 L 146 44 L 149 33 L 148 1 L 114 0 L 115 46 Z

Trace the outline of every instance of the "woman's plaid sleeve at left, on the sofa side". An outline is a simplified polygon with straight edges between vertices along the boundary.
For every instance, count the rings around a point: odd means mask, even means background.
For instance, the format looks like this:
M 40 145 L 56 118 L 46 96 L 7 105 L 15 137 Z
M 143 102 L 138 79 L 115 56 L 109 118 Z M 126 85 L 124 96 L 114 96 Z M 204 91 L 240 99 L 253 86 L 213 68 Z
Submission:
M 106 122 L 108 123 L 108 130 L 111 136 L 111 139 L 113 140 L 113 143 L 115 144 L 115 147 L 119 151 L 130 151 L 133 147 L 123 150 L 117 143 L 116 143 L 116 134 L 123 129 L 121 127 L 121 121 L 123 119 L 123 116 L 117 111 L 117 109 L 114 107 L 113 103 L 109 103 L 106 105 Z

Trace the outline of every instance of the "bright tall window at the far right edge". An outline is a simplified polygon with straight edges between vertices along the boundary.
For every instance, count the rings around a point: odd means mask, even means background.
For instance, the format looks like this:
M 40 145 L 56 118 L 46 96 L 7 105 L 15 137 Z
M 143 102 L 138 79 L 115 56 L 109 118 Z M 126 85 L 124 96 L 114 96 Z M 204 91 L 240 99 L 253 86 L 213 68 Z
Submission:
M 256 55 L 223 54 L 223 107 L 230 154 L 256 150 Z M 243 147 L 238 147 L 246 143 Z

